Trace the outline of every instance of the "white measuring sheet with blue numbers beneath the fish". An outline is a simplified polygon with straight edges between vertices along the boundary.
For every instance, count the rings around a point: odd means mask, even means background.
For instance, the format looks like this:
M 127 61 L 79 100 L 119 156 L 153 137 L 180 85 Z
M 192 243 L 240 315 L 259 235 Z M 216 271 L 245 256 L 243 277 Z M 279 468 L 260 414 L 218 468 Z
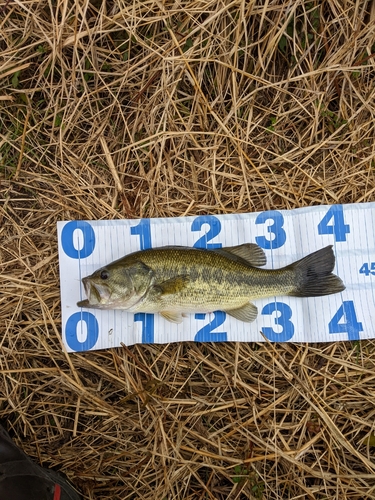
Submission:
M 308 207 L 239 215 L 58 222 L 62 335 L 70 352 L 136 343 L 335 342 L 375 337 L 375 203 Z M 243 323 L 224 312 L 191 314 L 174 324 L 159 315 L 80 309 L 81 278 L 120 257 L 165 245 L 219 248 L 257 243 L 265 268 L 279 268 L 327 245 L 346 285 L 317 298 L 255 301 L 258 318 Z

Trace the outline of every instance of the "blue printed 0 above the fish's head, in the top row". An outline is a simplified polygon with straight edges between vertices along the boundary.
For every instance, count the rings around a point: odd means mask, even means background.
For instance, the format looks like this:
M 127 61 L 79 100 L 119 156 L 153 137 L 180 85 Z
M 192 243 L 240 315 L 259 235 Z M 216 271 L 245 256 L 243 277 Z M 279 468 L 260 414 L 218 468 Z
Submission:
M 78 230 L 78 245 L 74 246 L 74 233 Z M 79 235 L 81 234 L 81 238 Z M 85 259 L 95 248 L 95 233 L 92 226 L 83 220 L 73 220 L 63 227 L 61 245 L 66 255 L 72 259 Z

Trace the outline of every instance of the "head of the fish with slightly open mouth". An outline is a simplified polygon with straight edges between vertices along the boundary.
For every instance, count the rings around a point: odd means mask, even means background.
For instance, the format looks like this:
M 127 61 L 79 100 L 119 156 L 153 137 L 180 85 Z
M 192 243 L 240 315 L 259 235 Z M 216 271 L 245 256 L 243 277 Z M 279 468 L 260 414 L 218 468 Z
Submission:
M 82 279 L 87 300 L 79 307 L 98 309 L 129 309 L 141 300 L 151 282 L 151 270 L 142 263 L 121 260 L 101 267 Z

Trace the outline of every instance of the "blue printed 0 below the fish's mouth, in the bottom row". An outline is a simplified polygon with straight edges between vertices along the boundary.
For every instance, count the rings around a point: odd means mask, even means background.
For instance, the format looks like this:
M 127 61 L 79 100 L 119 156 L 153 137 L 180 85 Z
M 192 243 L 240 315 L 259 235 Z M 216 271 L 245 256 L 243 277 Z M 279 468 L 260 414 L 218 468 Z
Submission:
M 82 322 L 86 323 L 86 339 L 80 340 L 78 332 L 82 329 Z M 80 325 L 80 328 L 79 328 Z M 87 311 L 72 314 L 65 325 L 66 343 L 72 351 L 88 351 L 96 344 L 99 337 L 99 325 L 95 316 Z

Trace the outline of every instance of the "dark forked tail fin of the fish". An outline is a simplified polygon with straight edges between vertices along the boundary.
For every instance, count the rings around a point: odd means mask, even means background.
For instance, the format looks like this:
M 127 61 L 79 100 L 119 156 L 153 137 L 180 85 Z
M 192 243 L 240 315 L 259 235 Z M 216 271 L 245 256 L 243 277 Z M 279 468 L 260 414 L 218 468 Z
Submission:
M 332 273 L 335 267 L 332 245 L 311 253 L 288 267 L 295 271 L 296 276 L 296 288 L 289 294 L 293 297 L 320 297 L 345 290 L 341 279 Z

